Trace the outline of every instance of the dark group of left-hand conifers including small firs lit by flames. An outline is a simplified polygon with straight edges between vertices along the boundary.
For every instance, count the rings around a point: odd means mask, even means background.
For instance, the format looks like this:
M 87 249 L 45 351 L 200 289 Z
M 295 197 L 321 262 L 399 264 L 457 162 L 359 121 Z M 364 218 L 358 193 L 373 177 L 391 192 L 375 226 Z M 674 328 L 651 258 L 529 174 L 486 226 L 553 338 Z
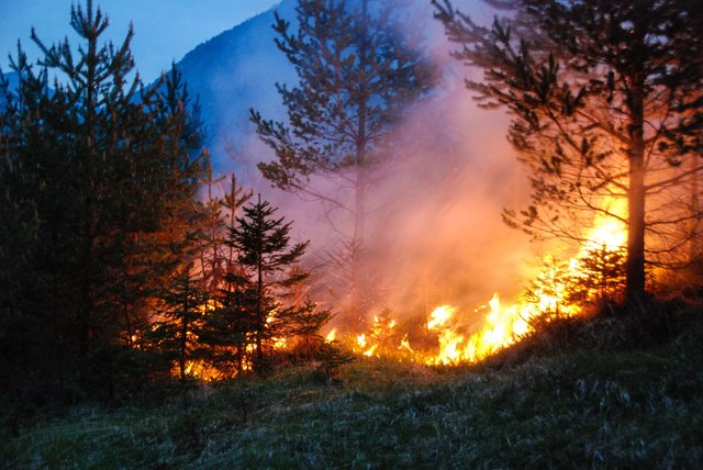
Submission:
M 267 202 L 244 206 L 252 194 L 234 176 L 213 194 L 178 70 L 145 87 L 132 31 L 103 44 L 108 19 L 90 0 L 70 18 L 77 49 L 32 32 L 42 58 L 18 46 L 19 85 L 0 83 L 5 391 L 113 398 L 186 381 L 196 362 L 220 377 L 266 370 L 282 335 L 314 343 L 331 312 L 301 287 L 308 244 L 291 245 Z

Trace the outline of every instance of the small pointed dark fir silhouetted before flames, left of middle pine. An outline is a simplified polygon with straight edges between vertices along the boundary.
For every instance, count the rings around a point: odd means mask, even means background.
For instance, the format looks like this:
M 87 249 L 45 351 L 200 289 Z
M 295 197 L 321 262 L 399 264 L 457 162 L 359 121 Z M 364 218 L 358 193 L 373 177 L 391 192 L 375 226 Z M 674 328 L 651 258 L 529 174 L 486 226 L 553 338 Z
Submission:
M 257 202 L 244 206 L 244 215 L 236 219 L 237 226 L 230 230 L 227 239 L 237 253 L 237 262 L 246 269 L 244 276 L 233 281 L 239 284 L 244 295 L 245 307 L 238 320 L 247 322 L 244 328 L 255 348 L 252 362 L 257 372 L 265 370 L 266 351 L 272 347 L 274 338 L 286 334 L 290 318 L 299 310 L 294 304 L 287 305 L 282 294 L 308 277 L 293 268 L 309 242 L 290 246 L 292 223 L 275 217 L 276 211 L 259 197 Z

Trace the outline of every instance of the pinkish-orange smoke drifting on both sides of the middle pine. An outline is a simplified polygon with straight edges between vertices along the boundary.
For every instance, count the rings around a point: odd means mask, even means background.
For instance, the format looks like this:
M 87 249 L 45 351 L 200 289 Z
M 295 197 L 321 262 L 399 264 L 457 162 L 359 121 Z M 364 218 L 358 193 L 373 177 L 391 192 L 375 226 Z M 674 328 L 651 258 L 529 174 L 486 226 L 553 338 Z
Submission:
M 420 0 L 410 3 L 411 26 L 423 27 L 425 51 L 442 79 L 433 97 L 414 107 L 387 143 L 393 156 L 379 169 L 369 193 L 365 238 L 367 284 L 373 299 L 369 316 L 384 309 L 397 316 L 426 315 L 442 303 L 473 311 L 496 291 L 516 295 L 535 258 L 527 236 L 501 217 L 503 208 L 521 209 L 528 198 L 526 176 L 505 139 L 507 119 L 476 107 L 464 80 L 480 78 L 478 71 L 449 56 L 455 45 L 448 44 L 442 24 L 432 18 L 432 7 Z M 476 10 L 476 3 L 468 2 L 462 11 Z M 473 13 L 490 16 L 483 7 Z M 258 66 L 252 67 L 256 72 Z M 278 98 L 272 87 L 269 93 L 256 101 L 268 107 L 271 97 Z M 330 287 L 344 278 L 330 254 L 339 246 L 339 234 L 348 233 L 350 217 L 271 188 L 255 168 L 257 161 L 271 158 L 271 152 L 250 125 L 241 125 L 237 134 L 243 138 L 225 142 L 237 161 L 238 177 L 279 206 L 280 215 L 294 221 L 295 237 L 312 240 L 309 262 L 319 275 L 316 294 L 328 295 L 333 306 L 344 309 Z M 316 184 L 322 192 L 344 195 L 334 180 Z

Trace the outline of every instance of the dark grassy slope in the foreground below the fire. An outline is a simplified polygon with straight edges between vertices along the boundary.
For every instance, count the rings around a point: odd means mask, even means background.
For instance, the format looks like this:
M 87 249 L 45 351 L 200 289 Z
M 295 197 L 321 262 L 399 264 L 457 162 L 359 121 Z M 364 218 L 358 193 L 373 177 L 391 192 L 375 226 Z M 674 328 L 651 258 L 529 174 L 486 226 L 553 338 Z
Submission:
M 699 322 L 700 323 L 700 322 Z M 78 406 L 1 437 L 9 468 L 701 468 L 703 328 L 500 369 L 295 368 L 179 402 Z

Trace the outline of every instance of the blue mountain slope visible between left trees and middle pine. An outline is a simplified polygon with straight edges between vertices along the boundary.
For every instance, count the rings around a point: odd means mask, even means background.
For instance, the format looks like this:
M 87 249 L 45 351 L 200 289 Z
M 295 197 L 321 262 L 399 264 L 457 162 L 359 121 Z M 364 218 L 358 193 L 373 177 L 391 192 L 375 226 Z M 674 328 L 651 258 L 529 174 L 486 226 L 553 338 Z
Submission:
M 270 154 L 256 137 L 249 109 L 265 116 L 283 115 L 276 82 L 294 82 L 295 74 L 274 42 L 271 24 L 275 11 L 292 22 L 295 4 L 295 0 L 283 0 L 200 44 L 176 64 L 191 96 L 199 97 L 205 145 L 215 169 L 256 178 L 254 165 L 263 153 Z

